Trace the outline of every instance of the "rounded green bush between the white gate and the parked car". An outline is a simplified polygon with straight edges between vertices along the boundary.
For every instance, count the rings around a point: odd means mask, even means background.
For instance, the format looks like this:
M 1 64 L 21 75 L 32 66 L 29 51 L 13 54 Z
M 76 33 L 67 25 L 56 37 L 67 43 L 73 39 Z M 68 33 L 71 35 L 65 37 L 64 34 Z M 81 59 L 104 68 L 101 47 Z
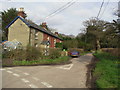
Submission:
M 50 49 L 49 50 L 49 58 L 50 59 L 56 59 L 61 56 L 61 52 L 59 49 Z

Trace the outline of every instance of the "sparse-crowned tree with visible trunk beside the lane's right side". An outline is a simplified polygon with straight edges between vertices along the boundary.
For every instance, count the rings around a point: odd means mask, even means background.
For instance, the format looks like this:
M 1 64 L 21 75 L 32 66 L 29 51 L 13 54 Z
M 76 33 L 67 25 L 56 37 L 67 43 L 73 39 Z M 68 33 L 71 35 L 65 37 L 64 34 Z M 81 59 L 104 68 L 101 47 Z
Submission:
M 101 48 L 100 41 L 104 35 L 105 23 L 105 21 L 96 18 L 91 18 L 84 22 L 87 36 L 90 34 L 96 42 L 96 50 L 100 50 Z

